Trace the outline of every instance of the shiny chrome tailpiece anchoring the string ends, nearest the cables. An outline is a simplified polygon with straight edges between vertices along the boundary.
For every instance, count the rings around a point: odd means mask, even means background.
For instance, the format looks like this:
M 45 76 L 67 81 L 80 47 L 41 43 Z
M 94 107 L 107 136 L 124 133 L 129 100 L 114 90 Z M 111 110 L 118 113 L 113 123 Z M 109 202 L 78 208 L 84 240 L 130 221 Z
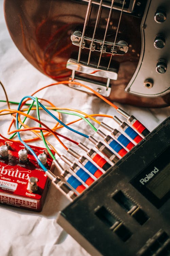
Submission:
M 85 82 L 87 86 L 89 86 L 93 90 L 96 90 L 98 93 L 100 93 L 105 97 L 108 97 L 111 94 L 110 80 L 111 79 L 117 80 L 117 76 L 118 76 L 118 69 L 116 68 L 109 68 L 107 70 L 105 67 L 102 67 L 102 66 L 100 66 L 100 68 L 97 68 L 95 65 L 92 65 L 92 64 L 87 66 L 85 62 L 78 63 L 75 59 L 69 59 L 67 61 L 66 68 L 72 70 L 70 81 L 78 82 L 78 83 Z M 86 77 L 76 76 L 75 75 L 76 71 L 80 73 L 85 73 L 91 76 L 105 78 L 107 79 L 107 82 L 106 84 L 104 84 L 99 81 L 92 80 Z M 69 86 L 91 93 L 91 91 L 89 91 L 88 89 L 78 86 L 76 84 L 69 84 Z

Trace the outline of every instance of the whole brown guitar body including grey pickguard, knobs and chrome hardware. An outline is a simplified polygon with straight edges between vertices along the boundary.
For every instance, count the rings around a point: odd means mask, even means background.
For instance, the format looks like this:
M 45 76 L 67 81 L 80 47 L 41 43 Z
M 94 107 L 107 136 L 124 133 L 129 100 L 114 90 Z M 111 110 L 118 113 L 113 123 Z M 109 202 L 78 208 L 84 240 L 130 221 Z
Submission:
M 135 6 L 129 13 L 121 12 L 122 5 L 117 8 L 115 3 L 111 14 L 112 1 L 103 1 L 107 4 L 101 7 L 97 26 L 100 1 L 94 2 L 89 6 L 86 0 L 5 0 L 6 24 L 23 56 L 56 81 L 72 75 L 73 81 L 90 84 L 91 88 L 94 85 L 112 101 L 147 107 L 169 105 L 168 15 L 162 24 L 154 20 L 162 1 L 143 0 L 137 5 L 129 0 Z M 170 9 L 170 3 L 164 2 L 165 10 Z M 164 48 L 154 47 L 155 33 L 166 33 Z M 90 48 L 90 42 L 94 48 Z M 158 67 L 162 73 L 156 72 L 160 59 L 167 63 L 165 73 L 162 67 Z

